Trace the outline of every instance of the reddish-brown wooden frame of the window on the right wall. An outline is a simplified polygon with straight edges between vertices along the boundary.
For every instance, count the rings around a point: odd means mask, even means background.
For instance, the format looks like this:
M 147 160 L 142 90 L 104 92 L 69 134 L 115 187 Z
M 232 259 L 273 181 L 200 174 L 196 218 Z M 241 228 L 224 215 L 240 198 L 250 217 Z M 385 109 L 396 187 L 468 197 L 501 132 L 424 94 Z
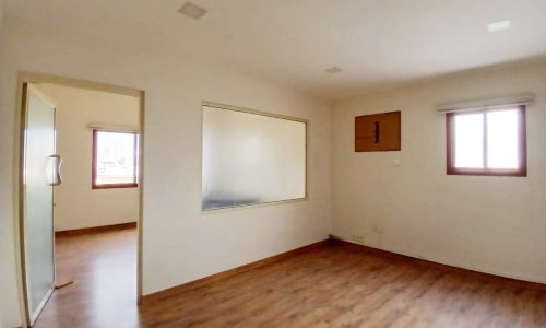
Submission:
M 448 175 L 475 175 L 475 176 L 527 176 L 527 147 L 526 147 L 526 122 L 525 122 L 525 106 L 507 106 L 506 109 L 518 109 L 518 159 L 519 167 L 515 169 L 507 168 L 488 168 L 487 167 L 487 113 L 502 110 L 505 108 L 483 108 L 476 110 L 465 110 L 464 113 L 447 113 L 446 114 L 446 131 L 447 131 L 447 160 Z M 454 117 L 464 114 L 484 114 L 484 138 L 483 138 L 483 156 L 484 168 L 461 168 L 455 167 L 455 136 L 454 136 Z

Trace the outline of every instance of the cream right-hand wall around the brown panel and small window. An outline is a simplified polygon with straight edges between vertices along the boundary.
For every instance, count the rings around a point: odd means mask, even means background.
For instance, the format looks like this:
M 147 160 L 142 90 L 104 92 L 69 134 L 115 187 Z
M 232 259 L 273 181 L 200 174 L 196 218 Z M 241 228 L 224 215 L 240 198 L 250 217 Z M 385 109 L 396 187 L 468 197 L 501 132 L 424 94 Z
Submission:
M 527 109 L 529 177 L 446 175 L 446 120 L 435 106 L 522 92 L 536 95 Z M 355 153 L 354 117 L 391 110 L 402 110 L 402 151 Z M 337 103 L 332 119 L 334 234 L 364 235 L 373 247 L 546 282 L 546 65 L 356 97 Z M 393 165 L 395 159 L 401 166 Z

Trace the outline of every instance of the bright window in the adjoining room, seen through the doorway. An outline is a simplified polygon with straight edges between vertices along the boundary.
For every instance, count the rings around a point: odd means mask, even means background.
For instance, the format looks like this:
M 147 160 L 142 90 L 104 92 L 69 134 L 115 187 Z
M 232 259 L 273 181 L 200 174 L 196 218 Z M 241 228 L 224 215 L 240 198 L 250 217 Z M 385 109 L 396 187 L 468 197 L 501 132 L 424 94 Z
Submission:
M 93 130 L 92 188 L 139 186 L 139 134 Z

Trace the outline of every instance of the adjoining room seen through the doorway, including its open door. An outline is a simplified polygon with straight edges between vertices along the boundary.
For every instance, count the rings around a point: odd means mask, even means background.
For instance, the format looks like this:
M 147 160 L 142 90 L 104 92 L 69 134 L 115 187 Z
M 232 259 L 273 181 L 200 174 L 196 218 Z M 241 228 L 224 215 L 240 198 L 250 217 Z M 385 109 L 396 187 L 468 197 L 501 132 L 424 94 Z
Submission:
M 23 84 L 21 241 L 33 327 L 81 316 L 108 326 L 97 311 L 138 300 L 140 98 L 69 84 Z

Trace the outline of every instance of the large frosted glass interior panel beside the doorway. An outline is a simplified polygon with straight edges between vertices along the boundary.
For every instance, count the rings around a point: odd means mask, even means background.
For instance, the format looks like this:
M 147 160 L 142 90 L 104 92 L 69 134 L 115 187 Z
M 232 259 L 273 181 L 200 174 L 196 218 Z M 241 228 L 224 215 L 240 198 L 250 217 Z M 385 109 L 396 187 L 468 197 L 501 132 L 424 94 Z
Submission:
M 203 107 L 202 209 L 306 197 L 307 124 Z

